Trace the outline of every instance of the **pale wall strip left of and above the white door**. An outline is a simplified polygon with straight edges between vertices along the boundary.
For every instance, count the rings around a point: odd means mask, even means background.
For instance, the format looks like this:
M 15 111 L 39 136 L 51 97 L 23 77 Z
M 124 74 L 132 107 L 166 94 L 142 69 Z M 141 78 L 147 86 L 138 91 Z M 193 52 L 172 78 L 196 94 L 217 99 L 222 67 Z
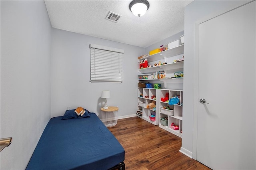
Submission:
M 187 154 L 193 154 L 196 158 L 196 136 L 193 132 L 196 125 L 194 121 L 194 105 L 197 105 L 197 99 L 194 98 L 194 89 L 197 88 L 194 83 L 196 78 L 195 67 L 195 23 L 206 16 L 212 14 L 221 14 L 233 8 L 236 8 L 248 1 L 215 1 L 215 0 L 196 0 L 185 7 L 185 27 L 184 27 L 184 105 L 183 105 L 183 133 L 182 148 L 188 151 Z M 194 130 L 194 131 L 193 131 Z M 194 140 L 193 140 L 194 137 Z

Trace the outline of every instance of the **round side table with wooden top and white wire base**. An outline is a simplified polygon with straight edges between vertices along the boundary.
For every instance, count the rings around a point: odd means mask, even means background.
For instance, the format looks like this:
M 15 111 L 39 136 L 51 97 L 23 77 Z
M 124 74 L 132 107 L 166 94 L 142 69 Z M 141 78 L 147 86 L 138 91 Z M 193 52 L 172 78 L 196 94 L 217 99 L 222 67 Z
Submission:
M 118 107 L 109 106 L 108 109 L 100 108 L 102 122 L 106 127 L 113 127 L 117 124 Z

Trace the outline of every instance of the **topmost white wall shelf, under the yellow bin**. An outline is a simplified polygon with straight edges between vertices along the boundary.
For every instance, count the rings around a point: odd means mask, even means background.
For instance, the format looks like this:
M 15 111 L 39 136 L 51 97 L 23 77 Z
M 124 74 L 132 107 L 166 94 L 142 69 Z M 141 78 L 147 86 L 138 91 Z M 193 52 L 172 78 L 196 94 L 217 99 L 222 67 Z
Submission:
M 183 53 L 184 53 L 184 44 L 179 45 L 178 47 L 167 49 L 165 51 L 162 51 L 162 52 L 159 52 L 159 53 L 156 53 L 153 55 L 143 57 L 139 60 L 148 59 L 148 62 L 151 62 L 151 61 L 164 59 L 165 57 L 173 57 L 175 55 L 179 55 L 179 54 L 183 54 Z

